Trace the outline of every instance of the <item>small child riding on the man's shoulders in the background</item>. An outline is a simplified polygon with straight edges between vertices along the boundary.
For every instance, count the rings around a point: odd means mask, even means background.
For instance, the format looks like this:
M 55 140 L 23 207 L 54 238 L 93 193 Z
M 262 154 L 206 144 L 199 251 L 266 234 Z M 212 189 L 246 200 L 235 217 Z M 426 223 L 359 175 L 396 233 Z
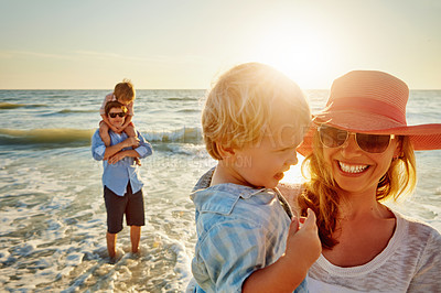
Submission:
M 101 107 L 99 108 L 99 115 L 103 118 L 103 120 L 99 122 L 99 135 L 106 146 L 110 145 L 109 129 L 111 129 L 116 133 L 126 132 L 129 138 L 137 138 L 137 131 L 135 129 L 133 122 L 131 122 L 131 119 L 133 117 L 135 98 L 136 90 L 133 84 L 129 79 L 123 79 L 122 83 L 117 84 L 115 86 L 114 93 L 110 93 L 105 97 Z M 119 101 L 128 109 L 126 122 L 121 127 L 112 126 L 105 112 L 107 102 L 114 100 Z M 141 165 L 138 158 L 136 158 L 135 161 L 138 165 Z

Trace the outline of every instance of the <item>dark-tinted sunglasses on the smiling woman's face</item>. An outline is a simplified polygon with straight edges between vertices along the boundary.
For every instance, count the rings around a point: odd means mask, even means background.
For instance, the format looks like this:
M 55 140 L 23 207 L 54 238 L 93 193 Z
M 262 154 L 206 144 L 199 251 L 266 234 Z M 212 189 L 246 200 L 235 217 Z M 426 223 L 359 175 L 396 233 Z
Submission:
M 359 149 L 368 153 L 383 153 L 389 146 L 390 140 L 395 138 L 394 134 L 366 134 L 348 132 L 346 130 L 333 128 L 330 126 L 320 126 L 319 137 L 322 144 L 326 148 L 342 146 L 351 133 L 355 134 L 355 141 Z

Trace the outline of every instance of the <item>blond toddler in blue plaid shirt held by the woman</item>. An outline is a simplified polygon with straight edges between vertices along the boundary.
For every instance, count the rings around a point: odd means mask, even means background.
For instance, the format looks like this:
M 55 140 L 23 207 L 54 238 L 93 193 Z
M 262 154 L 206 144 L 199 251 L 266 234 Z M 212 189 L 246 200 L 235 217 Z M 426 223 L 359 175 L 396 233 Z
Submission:
M 197 242 L 187 292 L 308 291 L 321 253 L 315 215 L 299 228 L 276 186 L 297 164 L 310 122 L 300 88 L 270 66 L 246 63 L 220 76 L 202 116 L 218 163 L 191 195 Z

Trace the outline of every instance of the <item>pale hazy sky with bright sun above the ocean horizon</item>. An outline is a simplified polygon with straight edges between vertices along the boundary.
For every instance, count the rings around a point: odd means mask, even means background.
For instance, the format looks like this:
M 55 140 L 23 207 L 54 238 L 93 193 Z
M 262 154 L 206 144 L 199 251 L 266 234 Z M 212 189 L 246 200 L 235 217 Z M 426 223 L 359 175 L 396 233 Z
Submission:
M 439 0 L 0 0 L 0 89 L 209 88 L 244 62 L 304 89 L 376 69 L 441 89 Z

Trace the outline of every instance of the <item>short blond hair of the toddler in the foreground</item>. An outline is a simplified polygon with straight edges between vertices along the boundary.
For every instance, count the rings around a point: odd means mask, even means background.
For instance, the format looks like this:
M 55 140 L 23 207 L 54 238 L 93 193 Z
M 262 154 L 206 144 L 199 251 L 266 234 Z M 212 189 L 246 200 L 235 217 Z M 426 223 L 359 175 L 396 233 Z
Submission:
M 243 149 L 262 138 L 281 102 L 292 112 L 292 126 L 303 131 L 310 109 L 299 86 L 282 73 L 260 63 L 245 63 L 223 74 L 207 94 L 202 112 L 203 137 L 208 153 L 222 160 L 218 146 Z

